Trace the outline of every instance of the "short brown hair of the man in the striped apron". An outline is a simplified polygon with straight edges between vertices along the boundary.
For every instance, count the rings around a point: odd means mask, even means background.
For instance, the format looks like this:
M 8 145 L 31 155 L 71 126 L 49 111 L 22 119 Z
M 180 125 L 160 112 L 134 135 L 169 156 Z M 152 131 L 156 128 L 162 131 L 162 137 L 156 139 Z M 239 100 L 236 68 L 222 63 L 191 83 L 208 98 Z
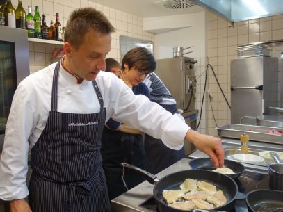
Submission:
M 99 10 L 92 7 L 73 10 L 67 20 L 64 40 L 79 49 L 86 33 L 91 30 L 103 34 L 115 32 L 115 28 Z

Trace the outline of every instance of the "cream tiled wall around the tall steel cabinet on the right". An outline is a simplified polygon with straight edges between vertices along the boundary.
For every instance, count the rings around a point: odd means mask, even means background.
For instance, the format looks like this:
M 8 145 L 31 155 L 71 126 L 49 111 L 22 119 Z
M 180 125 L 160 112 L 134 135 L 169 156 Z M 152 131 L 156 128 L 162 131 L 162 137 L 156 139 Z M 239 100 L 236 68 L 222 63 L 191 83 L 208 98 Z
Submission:
M 234 28 L 229 28 L 229 22 L 212 13 L 207 13 L 206 21 L 209 63 L 213 66 L 230 104 L 230 60 L 237 58 L 237 45 L 283 39 L 283 15 L 234 23 Z M 272 49 L 272 55 L 280 58 L 283 46 L 273 47 Z M 279 81 L 282 83 L 282 76 L 280 76 Z M 213 108 L 211 109 L 210 104 L 207 106 L 209 134 L 216 136 L 216 123 L 218 126 L 229 124 L 231 115 L 211 70 L 209 70 L 209 88 L 212 91 Z M 216 117 L 216 123 L 213 120 L 213 113 Z

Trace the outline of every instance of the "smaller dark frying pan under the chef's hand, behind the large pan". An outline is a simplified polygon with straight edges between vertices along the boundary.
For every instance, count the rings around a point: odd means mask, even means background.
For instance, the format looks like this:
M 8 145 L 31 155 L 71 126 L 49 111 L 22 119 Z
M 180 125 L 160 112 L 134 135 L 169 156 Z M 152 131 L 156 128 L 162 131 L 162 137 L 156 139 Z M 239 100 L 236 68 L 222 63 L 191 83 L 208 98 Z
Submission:
M 188 162 L 193 170 L 215 170 L 216 168 L 212 164 L 209 158 L 195 158 Z M 245 166 L 242 163 L 236 161 L 224 160 L 224 167 L 233 170 L 234 174 L 225 174 L 232 179 L 237 179 L 245 171 Z

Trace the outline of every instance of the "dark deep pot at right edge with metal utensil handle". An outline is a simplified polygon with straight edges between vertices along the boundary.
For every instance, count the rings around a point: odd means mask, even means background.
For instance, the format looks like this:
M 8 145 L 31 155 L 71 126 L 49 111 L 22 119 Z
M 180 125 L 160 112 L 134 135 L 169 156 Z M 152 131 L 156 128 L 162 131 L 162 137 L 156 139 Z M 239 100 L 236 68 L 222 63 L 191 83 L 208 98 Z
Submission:
M 270 154 L 277 163 L 267 165 L 269 188 L 273 190 L 283 190 L 283 163 L 279 163 L 279 157 L 277 157 L 273 152 L 270 152 Z

